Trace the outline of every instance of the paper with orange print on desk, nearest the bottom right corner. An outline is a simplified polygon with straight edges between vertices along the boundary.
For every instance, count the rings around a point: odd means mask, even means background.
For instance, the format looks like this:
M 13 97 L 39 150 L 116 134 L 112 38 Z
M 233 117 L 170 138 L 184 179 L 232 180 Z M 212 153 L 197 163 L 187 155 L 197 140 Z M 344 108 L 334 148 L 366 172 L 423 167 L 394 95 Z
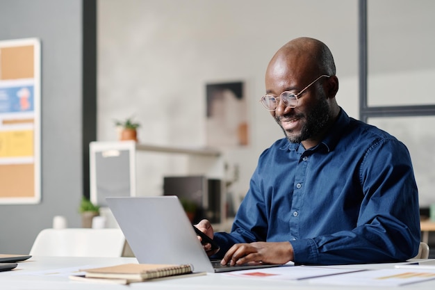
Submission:
M 344 286 L 401 286 L 435 279 L 435 271 L 427 269 L 388 268 L 357 273 L 318 277 L 309 280 L 314 284 L 334 284 Z

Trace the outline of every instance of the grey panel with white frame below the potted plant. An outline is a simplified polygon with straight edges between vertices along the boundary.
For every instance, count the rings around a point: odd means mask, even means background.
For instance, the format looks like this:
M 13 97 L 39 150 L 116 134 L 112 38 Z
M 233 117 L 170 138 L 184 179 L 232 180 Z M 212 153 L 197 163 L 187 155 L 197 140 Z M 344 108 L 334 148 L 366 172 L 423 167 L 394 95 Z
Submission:
M 136 143 L 90 143 L 90 200 L 107 207 L 106 198 L 136 196 Z

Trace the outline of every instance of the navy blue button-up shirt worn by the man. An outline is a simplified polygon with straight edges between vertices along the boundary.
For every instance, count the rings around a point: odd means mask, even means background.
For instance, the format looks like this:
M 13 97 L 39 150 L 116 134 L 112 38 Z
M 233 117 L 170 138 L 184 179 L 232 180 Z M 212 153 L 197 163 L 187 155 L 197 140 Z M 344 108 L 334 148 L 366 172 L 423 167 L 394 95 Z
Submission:
M 305 150 L 286 138 L 258 159 L 231 233 L 234 243 L 290 241 L 299 264 L 403 261 L 420 243 L 418 191 L 407 147 L 343 110 Z

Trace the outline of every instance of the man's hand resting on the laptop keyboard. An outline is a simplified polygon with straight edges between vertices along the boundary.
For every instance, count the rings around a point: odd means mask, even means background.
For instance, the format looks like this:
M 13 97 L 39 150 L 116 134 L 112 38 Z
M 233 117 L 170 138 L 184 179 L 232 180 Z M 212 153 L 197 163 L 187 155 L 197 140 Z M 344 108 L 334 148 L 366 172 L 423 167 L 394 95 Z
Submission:
M 220 264 L 286 264 L 293 258 L 293 247 L 289 242 L 236 243 L 228 250 Z

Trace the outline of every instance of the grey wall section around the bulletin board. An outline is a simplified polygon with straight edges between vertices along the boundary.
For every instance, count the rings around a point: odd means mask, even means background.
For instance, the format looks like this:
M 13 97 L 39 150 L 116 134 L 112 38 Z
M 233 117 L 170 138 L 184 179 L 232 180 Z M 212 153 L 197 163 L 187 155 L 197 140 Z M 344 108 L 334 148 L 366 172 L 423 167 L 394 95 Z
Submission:
M 39 38 L 42 47 L 42 201 L 0 205 L 0 252 L 25 254 L 55 215 L 79 226 L 83 193 L 82 3 L 0 0 L 0 40 Z

